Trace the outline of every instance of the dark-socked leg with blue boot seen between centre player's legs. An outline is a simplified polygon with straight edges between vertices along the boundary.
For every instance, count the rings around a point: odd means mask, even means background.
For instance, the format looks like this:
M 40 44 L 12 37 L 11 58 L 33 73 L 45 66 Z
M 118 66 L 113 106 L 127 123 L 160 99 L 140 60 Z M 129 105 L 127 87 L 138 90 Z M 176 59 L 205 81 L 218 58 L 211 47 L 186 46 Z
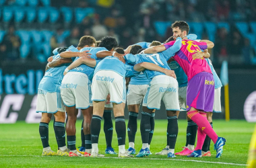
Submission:
M 112 139 L 113 139 L 113 122 L 112 122 L 112 103 L 105 104 L 104 108 L 104 133 L 106 139 L 106 154 L 117 154 L 112 148 Z

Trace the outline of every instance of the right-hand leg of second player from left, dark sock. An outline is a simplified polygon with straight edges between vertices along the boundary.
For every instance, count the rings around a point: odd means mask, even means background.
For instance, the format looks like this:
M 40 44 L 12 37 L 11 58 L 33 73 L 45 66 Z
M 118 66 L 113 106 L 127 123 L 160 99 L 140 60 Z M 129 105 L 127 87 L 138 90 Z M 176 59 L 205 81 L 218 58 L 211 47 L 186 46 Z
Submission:
M 86 153 L 92 153 L 92 141 L 91 141 L 91 122 L 92 122 L 92 107 L 90 106 L 88 109 L 82 109 L 82 114 L 84 116 L 84 140 L 85 140 L 85 147 L 86 151 L 84 155 L 87 155 Z

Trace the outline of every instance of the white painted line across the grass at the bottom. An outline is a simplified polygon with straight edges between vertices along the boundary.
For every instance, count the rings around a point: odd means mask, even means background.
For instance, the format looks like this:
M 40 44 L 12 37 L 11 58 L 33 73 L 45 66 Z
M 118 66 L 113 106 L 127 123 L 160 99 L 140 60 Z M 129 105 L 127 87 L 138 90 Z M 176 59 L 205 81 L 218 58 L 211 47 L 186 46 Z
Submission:
M 39 155 L 0 155 L 0 157 L 44 157 Z M 158 158 L 137 158 L 137 157 L 129 157 L 129 158 L 120 158 L 120 157 L 98 157 L 97 159 L 138 159 L 138 160 L 158 160 L 158 161 L 191 161 L 197 163 L 214 163 L 214 164 L 222 164 L 222 165 L 238 165 L 238 166 L 247 166 L 246 164 L 238 164 L 238 163 L 225 163 L 225 162 L 214 162 L 214 161 L 197 161 L 197 160 L 185 160 L 185 159 L 158 159 Z

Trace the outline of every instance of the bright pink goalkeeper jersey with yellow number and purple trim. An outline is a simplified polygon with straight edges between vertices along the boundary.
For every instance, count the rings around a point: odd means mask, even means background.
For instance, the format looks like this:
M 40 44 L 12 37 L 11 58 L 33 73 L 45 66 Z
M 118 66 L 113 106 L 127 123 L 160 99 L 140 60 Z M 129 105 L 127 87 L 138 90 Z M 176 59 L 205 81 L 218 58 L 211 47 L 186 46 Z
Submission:
M 166 49 L 170 48 L 175 41 L 164 44 Z M 181 50 L 176 52 L 172 57 L 176 60 L 187 75 L 187 80 L 190 81 L 197 73 L 207 72 L 212 73 L 210 66 L 205 58 L 193 59 L 192 55 L 196 51 L 207 49 L 206 42 L 196 42 L 193 40 L 182 40 Z

